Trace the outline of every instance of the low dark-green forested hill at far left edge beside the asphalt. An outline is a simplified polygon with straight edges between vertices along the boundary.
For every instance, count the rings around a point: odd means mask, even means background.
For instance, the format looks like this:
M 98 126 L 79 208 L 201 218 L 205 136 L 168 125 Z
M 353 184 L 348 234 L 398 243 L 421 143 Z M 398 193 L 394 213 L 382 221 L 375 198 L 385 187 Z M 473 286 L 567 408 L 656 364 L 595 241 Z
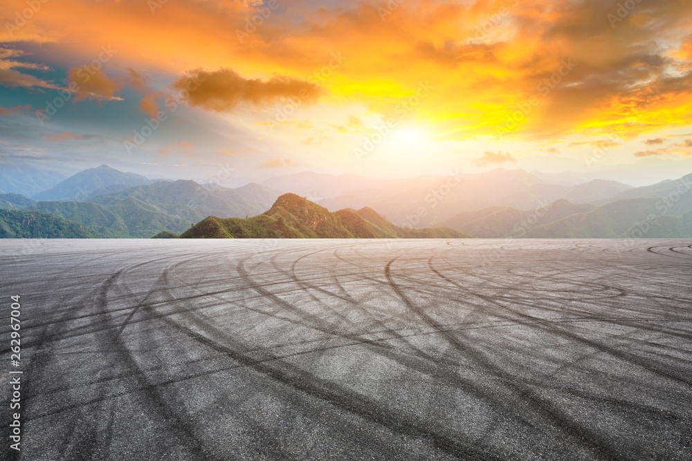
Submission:
M 38 211 L 0 209 L 0 238 L 103 238 L 80 223 Z

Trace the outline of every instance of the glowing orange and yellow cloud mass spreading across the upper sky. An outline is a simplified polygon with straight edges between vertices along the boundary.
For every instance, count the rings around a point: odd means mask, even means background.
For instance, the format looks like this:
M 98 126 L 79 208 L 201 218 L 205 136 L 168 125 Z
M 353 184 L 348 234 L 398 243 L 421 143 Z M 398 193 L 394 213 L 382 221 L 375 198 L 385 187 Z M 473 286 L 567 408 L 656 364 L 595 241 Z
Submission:
M 26 8 L 26 0 L 2 3 L 3 17 Z M 296 1 L 291 15 L 273 13 L 240 41 L 237 30 L 257 14 L 255 1 L 168 1 L 152 11 L 134 0 L 61 0 L 44 3 L 30 25 L 0 39 L 52 41 L 66 62 L 89 62 L 93 44 L 111 44 L 118 54 L 109 64 L 169 78 L 220 68 L 206 72 L 207 86 L 189 98 L 219 112 L 262 109 L 295 95 L 297 82 L 314 84 L 315 100 L 329 94 L 331 107 L 357 103 L 390 117 L 403 111 L 412 123 L 434 126 L 441 140 L 594 140 L 616 131 L 653 138 L 692 124 L 692 3 L 635 2 L 613 23 L 617 3 L 374 0 L 316 8 Z M 576 66 L 565 70 L 563 59 Z M 179 77 L 176 86 L 202 73 Z M 408 104 L 426 81 L 432 92 Z M 102 83 L 82 97 L 115 97 L 118 85 Z M 0 68 L 0 84 L 55 86 L 17 66 Z M 154 99 L 140 94 L 140 109 L 152 113 Z M 511 129 L 498 134 L 508 120 L 515 120 Z

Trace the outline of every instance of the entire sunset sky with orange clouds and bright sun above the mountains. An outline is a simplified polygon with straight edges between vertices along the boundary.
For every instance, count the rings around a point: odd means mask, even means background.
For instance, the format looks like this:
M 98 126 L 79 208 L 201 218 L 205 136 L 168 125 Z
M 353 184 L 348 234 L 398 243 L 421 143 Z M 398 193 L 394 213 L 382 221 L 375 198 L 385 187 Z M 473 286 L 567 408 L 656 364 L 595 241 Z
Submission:
M 3 0 L 0 164 L 16 161 L 683 176 L 692 2 Z

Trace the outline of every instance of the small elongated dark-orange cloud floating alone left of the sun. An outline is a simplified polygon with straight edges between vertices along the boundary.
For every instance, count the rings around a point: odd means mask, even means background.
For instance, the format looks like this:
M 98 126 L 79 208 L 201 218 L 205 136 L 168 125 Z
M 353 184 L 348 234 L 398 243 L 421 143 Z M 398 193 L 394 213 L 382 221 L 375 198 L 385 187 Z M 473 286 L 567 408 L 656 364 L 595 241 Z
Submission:
M 320 86 L 299 79 L 280 75 L 266 81 L 246 79 L 228 68 L 214 72 L 193 70 L 177 79 L 174 88 L 188 90 L 187 100 L 191 106 L 217 112 L 233 111 L 244 103 L 272 104 L 284 98 L 298 98 L 303 104 L 309 104 L 324 93 Z

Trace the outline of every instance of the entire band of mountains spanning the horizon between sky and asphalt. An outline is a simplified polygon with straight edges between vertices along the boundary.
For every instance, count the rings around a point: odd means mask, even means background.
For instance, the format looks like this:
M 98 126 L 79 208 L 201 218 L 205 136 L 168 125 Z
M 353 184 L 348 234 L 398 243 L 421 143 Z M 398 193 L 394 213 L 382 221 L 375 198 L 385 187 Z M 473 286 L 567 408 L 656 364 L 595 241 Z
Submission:
M 33 184 L 21 190 L 34 189 Z M 36 234 L 37 223 L 48 225 L 48 214 L 77 226 L 60 221 L 63 236 L 74 229 L 75 236 L 91 232 L 109 238 L 191 236 L 200 225 L 224 236 L 426 238 L 450 236 L 455 229 L 454 235 L 480 238 L 686 238 L 692 234 L 689 189 L 692 175 L 631 187 L 612 180 L 572 184 L 507 169 L 387 180 L 303 172 L 230 189 L 192 180 L 151 180 L 101 165 L 33 198 L 0 194 L 0 209 L 36 218 L 4 214 L 4 225 L 15 229 L 5 236 L 20 236 L 17 229 L 28 222 Z M 300 206 L 299 198 L 304 200 Z M 320 216 L 326 227 L 296 220 L 302 218 L 298 209 Z M 50 224 L 53 229 L 56 223 Z M 430 227 L 448 229 L 433 232 Z

